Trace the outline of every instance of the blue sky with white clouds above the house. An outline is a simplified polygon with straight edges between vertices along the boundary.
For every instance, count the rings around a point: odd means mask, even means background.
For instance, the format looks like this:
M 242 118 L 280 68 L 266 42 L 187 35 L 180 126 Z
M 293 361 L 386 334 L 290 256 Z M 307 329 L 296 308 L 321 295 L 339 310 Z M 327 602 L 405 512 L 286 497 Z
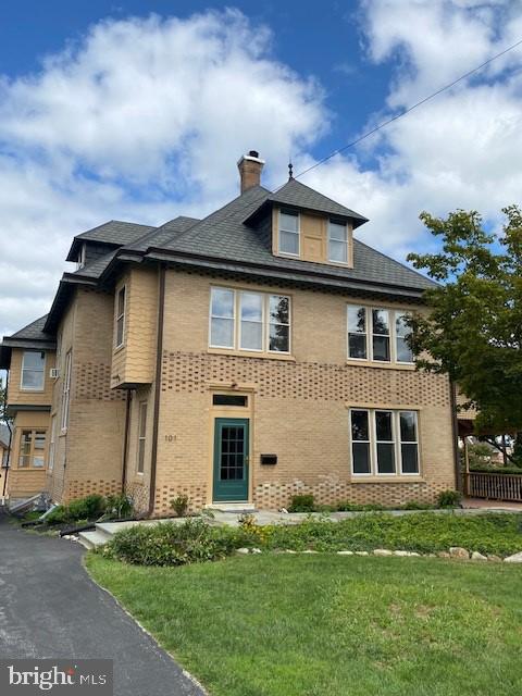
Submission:
M 156 16 L 151 17 L 151 13 Z M 47 311 L 71 238 L 108 219 L 201 216 L 235 163 L 282 184 L 522 38 L 509 0 L 20 0 L 0 8 L 0 332 Z M 302 181 L 403 260 L 421 210 L 520 202 L 522 51 Z

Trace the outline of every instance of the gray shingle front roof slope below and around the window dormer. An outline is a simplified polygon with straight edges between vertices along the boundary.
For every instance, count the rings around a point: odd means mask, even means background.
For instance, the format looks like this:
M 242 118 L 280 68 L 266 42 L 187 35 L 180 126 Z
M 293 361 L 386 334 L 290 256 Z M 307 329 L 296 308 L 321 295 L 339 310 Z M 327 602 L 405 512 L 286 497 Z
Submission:
M 262 264 L 278 270 L 331 275 L 351 281 L 385 283 L 420 290 L 434 287 L 432 281 L 417 271 L 358 239 L 353 241 L 353 269 L 274 257 L 263 235 L 243 222 L 249 219 L 268 198 L 269 191 L 263 187 L 250 188 L 224 208 L 192 225 L 187 232 L 165 241 L 163 248 L 170 251 Z

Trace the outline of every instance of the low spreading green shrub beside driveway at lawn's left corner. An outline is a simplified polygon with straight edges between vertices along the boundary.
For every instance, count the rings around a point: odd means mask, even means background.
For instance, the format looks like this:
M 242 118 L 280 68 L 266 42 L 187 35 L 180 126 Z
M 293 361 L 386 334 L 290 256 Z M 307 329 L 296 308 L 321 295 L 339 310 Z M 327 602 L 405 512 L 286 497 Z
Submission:
M 183 524 L 137 524 L 117 532 L 104 552 L 140 566 L 183 566 L 213 561 L 234 551 L 234 531 L 209 526 L 203 520 Z

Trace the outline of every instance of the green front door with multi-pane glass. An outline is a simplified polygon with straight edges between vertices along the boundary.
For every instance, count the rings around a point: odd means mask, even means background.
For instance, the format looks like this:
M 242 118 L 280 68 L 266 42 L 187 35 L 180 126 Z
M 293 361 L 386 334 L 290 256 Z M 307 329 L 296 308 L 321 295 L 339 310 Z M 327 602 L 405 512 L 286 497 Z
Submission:
M 248 500 L 248 419 L 216 418 L 214 502 Z

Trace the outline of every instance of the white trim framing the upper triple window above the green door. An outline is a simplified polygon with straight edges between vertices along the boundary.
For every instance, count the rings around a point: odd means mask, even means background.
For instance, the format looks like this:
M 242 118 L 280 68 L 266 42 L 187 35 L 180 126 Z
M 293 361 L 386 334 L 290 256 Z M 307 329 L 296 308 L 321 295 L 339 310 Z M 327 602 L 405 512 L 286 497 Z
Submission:
M 219 316 L 212 314 L 212 291 L 214 289 L 229 290 L 234 294 L 234 311 L 233 316 Z M 263 298 L 262 301 L 262 337 L 263 345 L 259 348 L 241 348 L 241 294 L 260 295 Z M 271 297 L 284 297 L 288 300 L 288 324 L 275 324 L 270 321 L 270 298 Z M 234 345 L 233 346 L 219 346 L 212 343 L 212 319 L 227 319 L 234 322 Z M 271 355 L 271 356 L 290 356 L 291 355 L 291 297 L 284 295 L 283 293 L 263 293 L 258 290 L 249 290 L 243 288 L 225 287 L 221 285 L 213 285 L 210 288 L 210 302 L 209 302 L 209 348 L 217 348 L 220 350 L 237 350 L 239 352 L 251 352 L 254 355 Z M 288 350 L 271 350 L 270 349 L 270 326 L 271 324 L 288 326 Z

